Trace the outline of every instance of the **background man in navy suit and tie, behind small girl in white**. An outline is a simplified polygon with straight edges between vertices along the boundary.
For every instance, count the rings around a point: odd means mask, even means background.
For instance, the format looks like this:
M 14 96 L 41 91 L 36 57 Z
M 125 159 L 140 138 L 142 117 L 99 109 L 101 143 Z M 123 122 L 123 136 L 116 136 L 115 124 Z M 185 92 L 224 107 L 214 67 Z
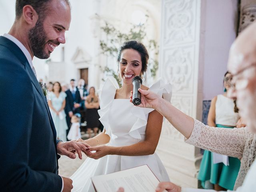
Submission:
M 68 90 L 65 91 L 65 93 L 67 94 L 67 96 L 66 96 L 66 106 L 64 110 L 66 113 L 66 121 L 68 124 L 68 130 L 67 130 L 67 135 L 68 135 L 68 132 L 70 130 L 71 117 L 76 113 L 80 114 L 80 107 L 82 105 L 80 92 L 76 87 L 76 80 L 74 79 L 70 80 L 70 87 Z

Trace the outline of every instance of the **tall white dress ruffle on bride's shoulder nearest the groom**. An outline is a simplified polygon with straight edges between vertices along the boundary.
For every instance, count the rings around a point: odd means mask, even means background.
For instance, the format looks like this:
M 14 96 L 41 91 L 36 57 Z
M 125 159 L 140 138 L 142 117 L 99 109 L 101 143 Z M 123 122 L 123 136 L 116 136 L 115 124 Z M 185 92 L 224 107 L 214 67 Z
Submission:
M 98 90 L 98 96 L 100 99 L 100 110 L 98 110 L 100 115 L 99 120 L 105 128 L 106 134 L 109 136 L 111 136 L 111 129 L 108 128 L 108 115 L 117 89 L 119 89 L 118 82 L 114 77 L 109 76 Z

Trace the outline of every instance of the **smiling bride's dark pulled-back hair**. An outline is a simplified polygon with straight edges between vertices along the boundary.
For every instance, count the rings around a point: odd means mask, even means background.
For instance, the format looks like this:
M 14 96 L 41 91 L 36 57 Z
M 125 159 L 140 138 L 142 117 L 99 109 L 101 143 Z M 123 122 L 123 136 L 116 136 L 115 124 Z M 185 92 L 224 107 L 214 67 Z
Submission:
M 142 73 L 146 72 L 147 64 L 148 64 L 148 58 L 149 58 L 148 50 L 146 49 L 146 47 L 141 42 L 139 42 L 137 40 L 130 40 L 130 41 L 124 42 L 118 50 L 118 54 L 117 54 L 117 61 L 118 62 L 120 62 L 122 51 L 125 50 L 125 49 L 134 49 L 140 54 L 141 62 L 142 62 L 141 72 Z

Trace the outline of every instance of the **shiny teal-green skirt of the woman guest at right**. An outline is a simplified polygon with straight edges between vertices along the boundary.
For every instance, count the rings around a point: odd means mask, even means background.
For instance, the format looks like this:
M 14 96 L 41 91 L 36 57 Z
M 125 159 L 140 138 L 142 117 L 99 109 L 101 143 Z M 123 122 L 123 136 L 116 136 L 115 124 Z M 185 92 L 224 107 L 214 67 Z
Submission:
M 232 128 L 216 124 L 216 127 Z M 218 184 L 228 190 L 233 190 L 236 177 L 240 169 L 240 160 L 234 157 L 228 157 L 229 166 L 223 163 L 213 164 L 212 152 L 205 150 L 200 164 L 198 180 L 205 189 L 212 189 L 212 184 Z

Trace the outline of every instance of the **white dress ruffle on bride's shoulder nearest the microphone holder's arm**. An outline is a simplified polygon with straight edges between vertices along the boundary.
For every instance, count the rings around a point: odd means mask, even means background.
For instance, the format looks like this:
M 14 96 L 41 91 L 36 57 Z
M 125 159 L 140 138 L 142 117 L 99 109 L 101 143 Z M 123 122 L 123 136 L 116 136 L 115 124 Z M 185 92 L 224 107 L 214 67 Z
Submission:
M 149 90 L 162 96 L 165 100 L 169 101 L 172 97 L 172 85 L 170 83 L 165 83 L 162 78 L 158 79 L 156 83 L 150 86 Z M 154 109 L 151 108 L 141 108 L 134 106 L 131 109 L 131 113 L 136 116 L 138 119 L 132 126 L 129 134 L 133 138 L 141 139 L 139 129 L 146 126 L 148 122 L 148 114 L 152 112 Z

